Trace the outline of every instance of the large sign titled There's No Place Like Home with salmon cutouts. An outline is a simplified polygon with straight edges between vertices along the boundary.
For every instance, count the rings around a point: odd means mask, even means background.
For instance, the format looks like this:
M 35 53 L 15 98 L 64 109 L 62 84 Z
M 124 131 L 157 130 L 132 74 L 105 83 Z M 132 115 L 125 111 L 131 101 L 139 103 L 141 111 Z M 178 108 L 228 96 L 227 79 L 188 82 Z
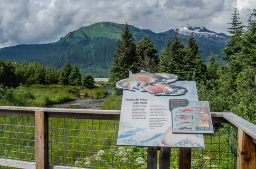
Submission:
M 202 134 L 172 132 L 171 110 L 198 101 L 195 81 L 152 74 L 130 73 L 128 79 L 117 82 L 117 88 L 123 90 L 117 145 L 203 148 Z M 180 102 L 174 106 L 170 104 L 173 99 Z

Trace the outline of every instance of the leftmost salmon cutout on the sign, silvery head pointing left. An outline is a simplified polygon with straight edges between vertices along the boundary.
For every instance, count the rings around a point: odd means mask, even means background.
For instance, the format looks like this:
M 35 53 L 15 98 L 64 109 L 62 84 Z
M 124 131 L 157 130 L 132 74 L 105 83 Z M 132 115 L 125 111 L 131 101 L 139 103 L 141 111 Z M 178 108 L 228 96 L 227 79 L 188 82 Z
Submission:
M 133 78 L 128 78 L 128 79 L 122 79 L 121 81 L 118 81 L 115 86 L 119 90 L 131 90 L 135 91 L 134 88 L 139 89 L 137 86 L 139 83 L 135 81 Z

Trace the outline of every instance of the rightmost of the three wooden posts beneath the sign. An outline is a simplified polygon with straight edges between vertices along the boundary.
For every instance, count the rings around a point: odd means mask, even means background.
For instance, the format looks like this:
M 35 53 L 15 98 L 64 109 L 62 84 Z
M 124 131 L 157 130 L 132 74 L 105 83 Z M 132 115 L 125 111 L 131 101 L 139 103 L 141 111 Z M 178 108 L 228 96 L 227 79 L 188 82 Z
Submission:
M 178 169 L 190 169 L 191 166 L 191 148 L 179 148 Z

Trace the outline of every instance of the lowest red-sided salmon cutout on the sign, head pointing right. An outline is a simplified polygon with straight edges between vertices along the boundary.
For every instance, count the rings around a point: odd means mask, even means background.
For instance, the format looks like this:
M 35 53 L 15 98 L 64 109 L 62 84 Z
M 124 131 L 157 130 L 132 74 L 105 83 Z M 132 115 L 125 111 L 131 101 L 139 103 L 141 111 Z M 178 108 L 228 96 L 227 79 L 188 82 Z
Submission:
M 147 92 L 152 93 L 156 96 L 160 96 L 160 95 L 177 96 L 177 95 L 182 95 L 187 91 L 187 89 L 184 87 L 174 86 L 168 83 L 162 83 L 161 85 L 157 85 L 157 86 L 148 85 L 148 86 L 145 86 L 144 89 Z

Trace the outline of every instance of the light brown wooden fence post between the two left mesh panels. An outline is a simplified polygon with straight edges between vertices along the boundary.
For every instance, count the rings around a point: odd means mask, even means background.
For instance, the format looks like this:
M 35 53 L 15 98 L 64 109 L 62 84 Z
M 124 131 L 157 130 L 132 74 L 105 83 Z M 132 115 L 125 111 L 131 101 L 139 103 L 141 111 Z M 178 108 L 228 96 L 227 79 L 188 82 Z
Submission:
M 45 112 L 35 111 L 35 168 L 48 165 L 48 118 Z

